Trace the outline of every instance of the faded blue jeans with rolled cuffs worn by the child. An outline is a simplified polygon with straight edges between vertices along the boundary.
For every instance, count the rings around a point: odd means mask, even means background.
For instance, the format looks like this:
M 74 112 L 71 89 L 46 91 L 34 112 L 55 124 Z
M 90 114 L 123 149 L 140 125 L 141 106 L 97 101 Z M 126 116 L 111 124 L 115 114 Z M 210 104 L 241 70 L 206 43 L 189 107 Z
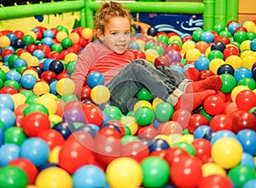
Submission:
M 189 82 L 182 74 L 166 66 L 154 67 L 146 60 L 133 60 L 106 86 L 111 93 L 110 104 L 126 114 L 137 102 L 135 96 L 143 87 L 154 97 L 175 105 Z

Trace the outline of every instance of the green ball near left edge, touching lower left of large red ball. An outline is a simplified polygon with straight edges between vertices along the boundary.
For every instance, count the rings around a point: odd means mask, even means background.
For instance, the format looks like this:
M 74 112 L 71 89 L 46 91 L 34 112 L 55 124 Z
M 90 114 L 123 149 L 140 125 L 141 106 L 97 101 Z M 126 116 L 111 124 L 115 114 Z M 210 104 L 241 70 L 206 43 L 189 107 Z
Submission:
M 23 128 L 12 127 L 8 128 L 4 132 L 4 143 L 12 143 L 15 145 L 21 145 L 24 140 L 26 140 L 26 134 L 23 131 Z

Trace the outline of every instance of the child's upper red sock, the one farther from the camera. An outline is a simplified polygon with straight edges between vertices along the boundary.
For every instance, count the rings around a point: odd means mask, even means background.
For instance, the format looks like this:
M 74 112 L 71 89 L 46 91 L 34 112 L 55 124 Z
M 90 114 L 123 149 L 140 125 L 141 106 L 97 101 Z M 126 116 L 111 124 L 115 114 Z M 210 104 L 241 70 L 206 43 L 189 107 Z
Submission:
M 187 93 L 201 92 L 207 89 L 219 90 L 222 86 L 222 80 L 218 75 L 207 77 L 204 80 L 192 82 L 187 87 Z

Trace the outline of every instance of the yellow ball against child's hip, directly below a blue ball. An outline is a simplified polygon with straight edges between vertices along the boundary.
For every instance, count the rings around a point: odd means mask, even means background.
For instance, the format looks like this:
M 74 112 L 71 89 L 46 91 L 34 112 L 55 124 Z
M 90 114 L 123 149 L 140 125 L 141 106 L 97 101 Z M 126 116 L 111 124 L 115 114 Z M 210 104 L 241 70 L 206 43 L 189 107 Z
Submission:
M 108 102 L 110 98 L 110 91 L 104 85 L 96 85 L 90 91 L 90 98 L 96 104 L 102 104 L 102 103 Z

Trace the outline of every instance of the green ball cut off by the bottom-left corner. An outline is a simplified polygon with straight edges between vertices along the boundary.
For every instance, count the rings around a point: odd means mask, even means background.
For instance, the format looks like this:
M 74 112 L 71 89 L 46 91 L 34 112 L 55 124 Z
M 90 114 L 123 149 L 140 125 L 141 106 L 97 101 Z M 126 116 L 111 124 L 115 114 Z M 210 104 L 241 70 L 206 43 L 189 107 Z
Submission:
M 28 178 L 24 170 L 15 166 L 0 169 L 0 188 L 26 188 Z

